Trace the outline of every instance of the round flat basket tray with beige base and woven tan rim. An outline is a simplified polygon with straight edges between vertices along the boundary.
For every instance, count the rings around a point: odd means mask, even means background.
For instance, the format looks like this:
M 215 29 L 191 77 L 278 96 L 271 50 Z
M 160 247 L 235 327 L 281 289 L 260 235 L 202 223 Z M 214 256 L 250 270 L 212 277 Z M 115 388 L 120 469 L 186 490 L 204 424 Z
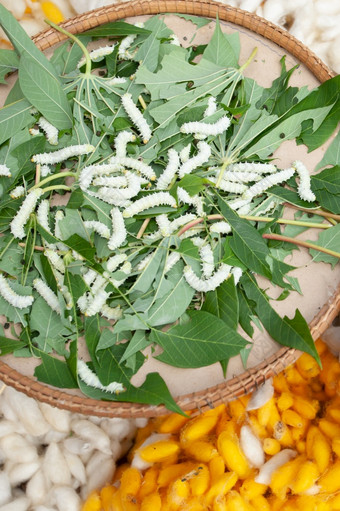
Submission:
M 142 21 L 146 16 L 160 13 L 179 13 L 211 18 L 212 22 L 199 30 L 188 20 L 167 15 L 165 22 L 179 37 L 183 45 L 209 41 L 218 16 L 222 30 L 226 33 L 239 32 L 241 40 L 241 62 L 245 62 L 255 46 L 258 47 L 256 60 L 247 68 L 246 75 L 255 78 L 262 86 L 268 87 L 280 73 L 280 58 L 286 55 L 287 67 L 300 64 L 293 74 L 293 85 L 316 87 L 334 73 L 306 46 L 280 27 L 241 9 L 229 7 L 214 1 L 134 1 L 112 5 L 87 12 L 62 24 L 69 32 L 79 34 L 108 22 L 129 18 L 127 21 Z M 136 18 L 137 17 L 137 18 Z M 34 42 L 43 51 L 53 48 L 65 38 L 59 32 L 48 29 L 34 37 Z M 285 142 L 275 152 L 280 166 L 289 165 L 294 159 L 303 159 L 313 169 L 323 156 L 325 147 L 307 154 L 304 146 Z M 289 214 L 289 212 L 287 213 Z M 290 212 L 292 214 L 292 212 Z M 314 233 L 315 234 L 315 233 Z M 308 233 L 309 239 L 313 233 Z M 297 252 L 297 254 L 295 254 Z M 299 278 L 303 296 L 292 293 L 284 302 L 275 302 L 281 315 L 292 316 L 298 307 L 309 322 L 314 340 L 330 326 L 340 310 L 340 265 L 333 270 L 324 263 L 311 263 L 307 252 L 295 251 L 287 261 L 298 267 L 293 275 Z M 266 284 L 267 287 L 267 284 Z M 274 288 L 271 295 L 278 293 Z M 276 295 L 277 296 L 277 295 Z M 186 410 L 204 411 L 222 402 L 227 402 L 251 392 L 267 378 L 282 371 L 300 355 L 295 349 L 280 348 L 267 334 L 257 330 L 253 336 L 253 349 L 244 370 L 239 357 L 232 359 L 224 379 L 219 364 L 200 369 L 177 369 L 165 366 L 152 359 L 144 364 L 136 375 L 135 384 L 140 384 L 146 372 L 159 371 L 175 396 L 178 404 Z M 134 403 L 97 401 L 85 397 L 78 391 L 61 391 L 42 384 L 33 376 L 37 365 L 32 359 L 19 359 L 7 355 L 0 359 L 0 378 L 19 391 L 53 406 L 86 415 L 153 417 L 167 413 L 163 406 L 148 406 Z

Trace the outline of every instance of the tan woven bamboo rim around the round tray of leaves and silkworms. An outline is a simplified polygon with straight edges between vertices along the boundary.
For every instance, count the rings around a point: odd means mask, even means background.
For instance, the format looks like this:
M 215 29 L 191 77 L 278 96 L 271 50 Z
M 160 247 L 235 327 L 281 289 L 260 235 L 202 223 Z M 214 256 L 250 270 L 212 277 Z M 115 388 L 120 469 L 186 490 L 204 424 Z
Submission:
M 277 27 L 257 15 L 214 1 L 137 0 L 87 12 L 65 21 L 62 26 L 69 32 L 79 34 L 98 27 L 99 25 L 123 18 L 160 13 L 180 13 L 203 16 L 211 18 L 212 20 L 216 19 L 218 16 L 221 22 L 225 22 L 226 25 L 232 27 L 233 30 L 238 30 L 240 32 L 250 31 L 254 39 L 263 46 L 271 42 L 272 47 L 283 48 L 283 51 L 280 50 L 281 55 L 290 55 L 294 62 L 303 64 L 304 68 L 309 70 L 308 72 L 310 72 L 316 80 L 316 84 L 334 76 L 334 73 L 311 50 L 284 29 Z M 65 37 L 62 34 L 53 29 L 45 30 L 33 38 L 38 48 L 42 51 L 52 48 L 64 39 Z M 331 278 L 334 281 L 334 276 Z M 335 278 L 338 280 L 337 277 Z M 325 303 L 325 301 L 327 303 Z M 327 300 L 325 301 L 322 303 L 322 306 L 316 307 L 309 323 L 314 340 L 325 332 L 340 311 L 339 283 L 334 284 L 333 282 L 332 294 L 330 297 L 327 296 Z M 295 349 L 286 347 L 280 349 L 276 348 L 273 354 L 264 357 L 262 360 L 258 360 L 250 369 L 240 371 L 236 376 L 232 375 L 232 377 L 229 377 L 227 380 L 223 380 L 212 386 L 207 384 L 205 388 L 198 391 L 178 395 L 176 401 L 185 410 L 198 409 L 204 411 L 223 402 L 252 392 L 259 385 L 264 383 L 266 379 L 274 376 L 289 364 L 293 363 L 299 355 L 300 352 Z M 11 385 L 15 389 L 39 401 L 49 403 L 52 406 L 85 415 L 107 417 L 154 417 L 167 413 L 167 410 L 163 406 L 151 407 L 134 403 L 96 401 L 80 393 L 74 394 L 73 392 L 61 391 L 37 382 L 33 376 L 27 375 L 27 371 L 22 371 L 22 368 L 17 366 L 16 362 L 13 363 L 12 359 L 8 360 L 6 357 L 4 359 L 5 362 L 0 360 L 0 379 L 5 384 Z M 31 374 L 33 374 L 32 370 Z M 183 382 L 185 382 L 185 378 Z M 185 391 L 185 383 L 183 383 L 183 387 Z M 176 396 L 176 393 L 174 395 Z

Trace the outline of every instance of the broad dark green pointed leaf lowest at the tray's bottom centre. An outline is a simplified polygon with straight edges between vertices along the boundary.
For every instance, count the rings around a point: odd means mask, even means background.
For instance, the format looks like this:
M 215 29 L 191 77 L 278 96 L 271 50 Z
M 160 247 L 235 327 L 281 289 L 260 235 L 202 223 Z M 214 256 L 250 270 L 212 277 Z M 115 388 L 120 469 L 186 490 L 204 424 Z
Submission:
M 246 346 L 247 341 L 216 316 L 205 311 L 188 315 L 189 323 L 166 332 L 152 330 L 150 341 L 164 350 L 157 360 L 175 367 L 203 367 L 233 357 Z

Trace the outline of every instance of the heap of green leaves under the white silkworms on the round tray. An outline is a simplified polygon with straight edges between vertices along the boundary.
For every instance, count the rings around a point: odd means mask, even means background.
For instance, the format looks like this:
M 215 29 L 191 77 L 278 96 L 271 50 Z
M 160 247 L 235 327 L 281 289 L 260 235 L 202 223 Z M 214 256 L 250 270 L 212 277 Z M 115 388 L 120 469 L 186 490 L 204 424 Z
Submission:
M 258 286 L 254 273 L 281 287 L 280 299 L 291 290 L 299 290 L 296 279 L 287 275 L 293 268 L 284 263 L 292 245 L 279 239 L 281 214 L 286 202 L 316 214 L 320 206 L 335 217 L 340 213 L 340 182 L 336 177 L 339 136 L 320 163 L 320 168 L 335 168 L 312 178 L 315 203 L 300 199 L 298 181 L 293 177 L 288 186 L 273 186 L 255 197 L 245 215 L 235 207 L 241 195 L 223 191 L 213 178 L 216 167 L 270 162 L 285 140 L 296 138 L 310 149 L 321 145 L 339 121 L 340 78 L 311 92 L 290 87 L 294 70 L 287 70 L 282 59 L 280 77 L 265 89 L 243 76 L 246 64 L 238 64 L 238 34 L 225 35 L 218 23 L 209 44 L 185 49 L 174 44 L 176 38 L 164 16 L 150 18 L 143 27 L 116 22 L 79 36 L 79 41 L 67 41 L 48 61 L 1 5 L 0 19 L 14 46 L 13 51 L 0 52 L 0 79 L 4 81 L 6 73 L 18 69 L 18 80 L 0 109 L 0 164 L 11 171 L 11 177 L 0 177 L 0 271 L 15 292 L 34 296 L 33 305 L 26 309 L 13 307 L 0 296 L 2 314 L 9 322 L 21 325 L 15 339 L 2 332 L 1 353 L 39 357 L 41 364 L 35 375 L 51 385 L 79 387 L 97 399 L 164 403 L 177 411 L 158 373 L 149 374 L 138 388 L 131 384 L 132 376 L 145 361 L 143 350 L 148 346 L 166 364 L 196 368 L 220 362 L 225 372 L 228 360 L 237 354 L 246 362 L 249 342 L 242 331 L 251 337 L 254 321 L 260 322 L 277 342 L 317 357 L 308 325 L 299 311 L 293 319 L 281 318 Z M 192 21 L 200 25 L 209 22 L 201 18 Z M 113 50 L 96 62 L 90 62 L 87 55 L 79 67 L 84 51 L 86 54 L 84 46 L 101 37 L 115 40 Z M 123 58 L 119 50 L 127 37 L 130 44 Z M 115 82 L 114 77 L 125 80 Z M 151 127 L 147 143 L 143 143 L 122 106 L 126 93 L 131 94 Z M 157 192 L 169 149 L 179 154 L 186 149 L 189 158 L 199 152 L 199 141 L 180 128 L 186 122 L 201 121 L 211 97 L 216 99 L 217 108 L 204 122 L 214 124 L 228 115 L 230 127 L 205 138 L 210 146 L 205 163 L 182 178 L 176 174 L 172 179 L 166 192 L 175 200 L 176 208 L 159 204 L 124 218 L 126 239 L 110 250 L 107 239 L 88 227 L 88 222 L 100 222 L 111 233 L 115 229 L 112 202 L 105 200 L 105 194 L 99 196 L 95 185 L 80 186 L 84 169 L 109 163 L 116 154 L 118 134 L 129 131 L 134 137 L 126 145 L 126 156 L 149 165 L 156 176 L 145 179 L 129 168 L 139 175 L 141 183 L 132 203 L 150 197 Z M 56 147 L 43 131 L 31 130 L 37 128 L 41 116 L 59 130 Z M 84 144 L 91 145 L 92 150 L 50 165 L 50 174 L 45 176 L 31 161 L 33 155 L 44 151 Z M 126 168 L 111 174 L 124 177 Z M 24 187 L 24 196 L 33 187 L 40 187 L 42 198 L 49 200 L 45 225 L 39 222 L 36 211 L 31 212 L 23 240 L 16 239 L 9 227 L 24 200 L 10 198 L 18 186 Z M 201 201 L 203 216 L 197 212 L 197 202 L 195 206 L 190 200 L 179 200 L 179 187 L 192 200 Z M 116 206 L 124 213 L 128 204 Z M 269 212 L 271 217 L 265 216 Z M 158 217 L 173 222 L 188 213 L 195 219 L 192 225 L 183 227 L 178 223 L 176 230 L 162 234 Z M 305 216 L 297 213 L 295 225 L 290 226 L 291 239 L 320 218 Z M 229 234 L 210 229 L 216 219 L 229 224 Z M 325 222 L 321 228 L 320 252 L 314 251 L 313 257 L 335 263 L 340 246 L 338 225 Z M 222 264 L 229 265 L 238 269 L 239 276 L 242 273 L 241 278 L 231 272 L 214 290 L 195 291 L 185 278 L 185 269 L 190 267 L 204 279 L 202 244 L 212 249 L 214 271 Z M 47 256 L 49 247 L 62 261 L 62 272 Z M 323 248 L 330 252 L 325 254 Z M 168 269 L 173 254 L 178 254 L 176 262 Z M 115 255 L 123 256 L 125 262 L 110 272 L 107 264 Z M 33 282 L 37 278 L 57 297 L 57 310 L 35 290 Z M 106 310 L 117 315 L 114 323 L 107 314 L 81 312 L 80 299 L 94 292 L 94 281 L 100 282 L 101 292 L 106 293 Z M 164 329 L 169 324 L 173 325 Z M 83 338 L 91 359 L 88 367 L 94 376 L 92 383 L 86 383 L 77 370 L 78 347 Z M 156 355 L 157 346 L 161 349 Z M 112 382 L 120 383 L 124 391 L 107 392 L 104 387 Z

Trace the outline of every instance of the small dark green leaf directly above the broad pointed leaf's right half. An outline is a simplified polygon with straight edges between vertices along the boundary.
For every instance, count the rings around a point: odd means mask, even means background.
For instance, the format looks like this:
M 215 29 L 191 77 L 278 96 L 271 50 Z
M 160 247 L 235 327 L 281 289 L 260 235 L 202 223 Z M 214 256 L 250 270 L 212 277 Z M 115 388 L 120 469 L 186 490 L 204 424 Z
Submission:
M 205 295 L 202 309 L 224 321 L 236 330 L 239 321 L 239 303 L 233 278 L 222 282 L 214 291 Z

